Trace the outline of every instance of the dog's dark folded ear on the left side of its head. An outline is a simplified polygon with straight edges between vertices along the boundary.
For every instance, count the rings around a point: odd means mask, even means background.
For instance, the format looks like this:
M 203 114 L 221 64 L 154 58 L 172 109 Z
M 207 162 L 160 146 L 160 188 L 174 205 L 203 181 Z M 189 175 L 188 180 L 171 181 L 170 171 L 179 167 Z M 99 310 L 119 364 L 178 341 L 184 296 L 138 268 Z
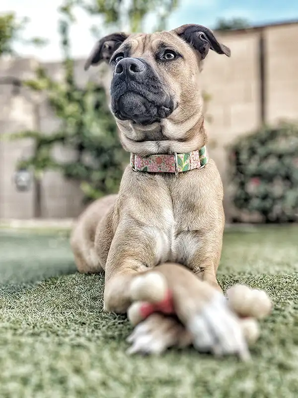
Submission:
M 118 47 L 128 38 L 128 34 L 119 32 L 112 33 L 100 39 L 93 47 L 91 54 L 85 62 L 84 70 L 89 69 L 91 65 L 97 65 L 101 61 L 110 62 L 111 56 Z

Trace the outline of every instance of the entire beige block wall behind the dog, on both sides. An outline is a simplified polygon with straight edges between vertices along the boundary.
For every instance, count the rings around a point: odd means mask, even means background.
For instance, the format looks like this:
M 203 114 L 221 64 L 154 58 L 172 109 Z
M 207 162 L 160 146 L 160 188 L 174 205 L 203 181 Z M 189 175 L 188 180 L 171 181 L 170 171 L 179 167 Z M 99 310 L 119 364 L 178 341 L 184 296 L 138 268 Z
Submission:
M 202 73 L 203 88 L 211 95 L 207 123 L 210 154 L 217 162 L 225 189 L 224 207 L 227 219 L 233 213 L 228 188 L 226 145 L 239 135 L 261 124 L 260 37 L 264 38 L 265 116 L 266 122 L 281 118 L 298 119 L 298 24 L 267 26 L 246 31 L 226 32 L 221 41 L 231 48 L 231 58 L 213 52 L 207 57 Z M 28 78 L 37 65 L 35 60 L 0 62 L 0 76 Z M 83 60 L 76 63 L 79 85 L 94 78 L 94 69 L 82 73 Z M 43 65 L 55 79 L 61 78 L 57 63 Z M 105 80 L 106 82 L 107 80 Z M 31 97 L 30 97 L 31 96 Z M 22 89 L 11 95 L 11 87 L 0 86 L 0 134 L 34 128 L 34 105 L 40 101 L 40 125 L 51 133 L 59 125 L 46 102 L 33 98 Z M 30 154 L 32 144 L 0 142 L 0 218 L 29 218 L 34 214 L 34 191 L 17 193 L 12 183 L 15 162 Z M 59 159 L 72 153 L 55 148 Z M 42 181 L 42 216 L 72 217 L 81 210 L 82 195 L 76 183 L 66 181 L 58 173 L 47 172 Z

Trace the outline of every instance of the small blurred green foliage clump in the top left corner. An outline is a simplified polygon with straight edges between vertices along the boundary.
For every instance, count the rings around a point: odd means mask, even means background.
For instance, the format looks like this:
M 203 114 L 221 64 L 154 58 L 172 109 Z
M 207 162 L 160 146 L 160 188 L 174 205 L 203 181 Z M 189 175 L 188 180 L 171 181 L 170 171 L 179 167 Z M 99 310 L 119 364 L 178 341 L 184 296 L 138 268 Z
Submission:
M 34 44 L 35 46 L 43 46 L 47 43 L 45 39 L 40 37 L 33 37 L 28 40 L 22 37 L 28 22 L 28 18 L 17 20 L 13 12 L 0 15 L 0 56 L 3 54 L 14 54 L 13 44 L 15 42 Z

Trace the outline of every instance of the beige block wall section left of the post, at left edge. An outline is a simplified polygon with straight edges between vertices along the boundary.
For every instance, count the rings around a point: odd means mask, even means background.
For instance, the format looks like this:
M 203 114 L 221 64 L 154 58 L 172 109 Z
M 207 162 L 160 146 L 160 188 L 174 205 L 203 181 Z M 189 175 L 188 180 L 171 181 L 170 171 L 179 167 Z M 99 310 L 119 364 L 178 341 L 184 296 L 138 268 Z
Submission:
M 35 60 L 18 59 L 1 62 L 0 78 L 28 79 L 37 66 Z M 27 91 L 12 93 L 12 86 L 0 86 L 0 217 L 31 218 L 34 215 L 34 189 L 18 194 L 14 187 L 15 163 L 32 154 L 31 140 L 3 141 L 3 134 L 34 128 L 34 106 L 27 100 Z

